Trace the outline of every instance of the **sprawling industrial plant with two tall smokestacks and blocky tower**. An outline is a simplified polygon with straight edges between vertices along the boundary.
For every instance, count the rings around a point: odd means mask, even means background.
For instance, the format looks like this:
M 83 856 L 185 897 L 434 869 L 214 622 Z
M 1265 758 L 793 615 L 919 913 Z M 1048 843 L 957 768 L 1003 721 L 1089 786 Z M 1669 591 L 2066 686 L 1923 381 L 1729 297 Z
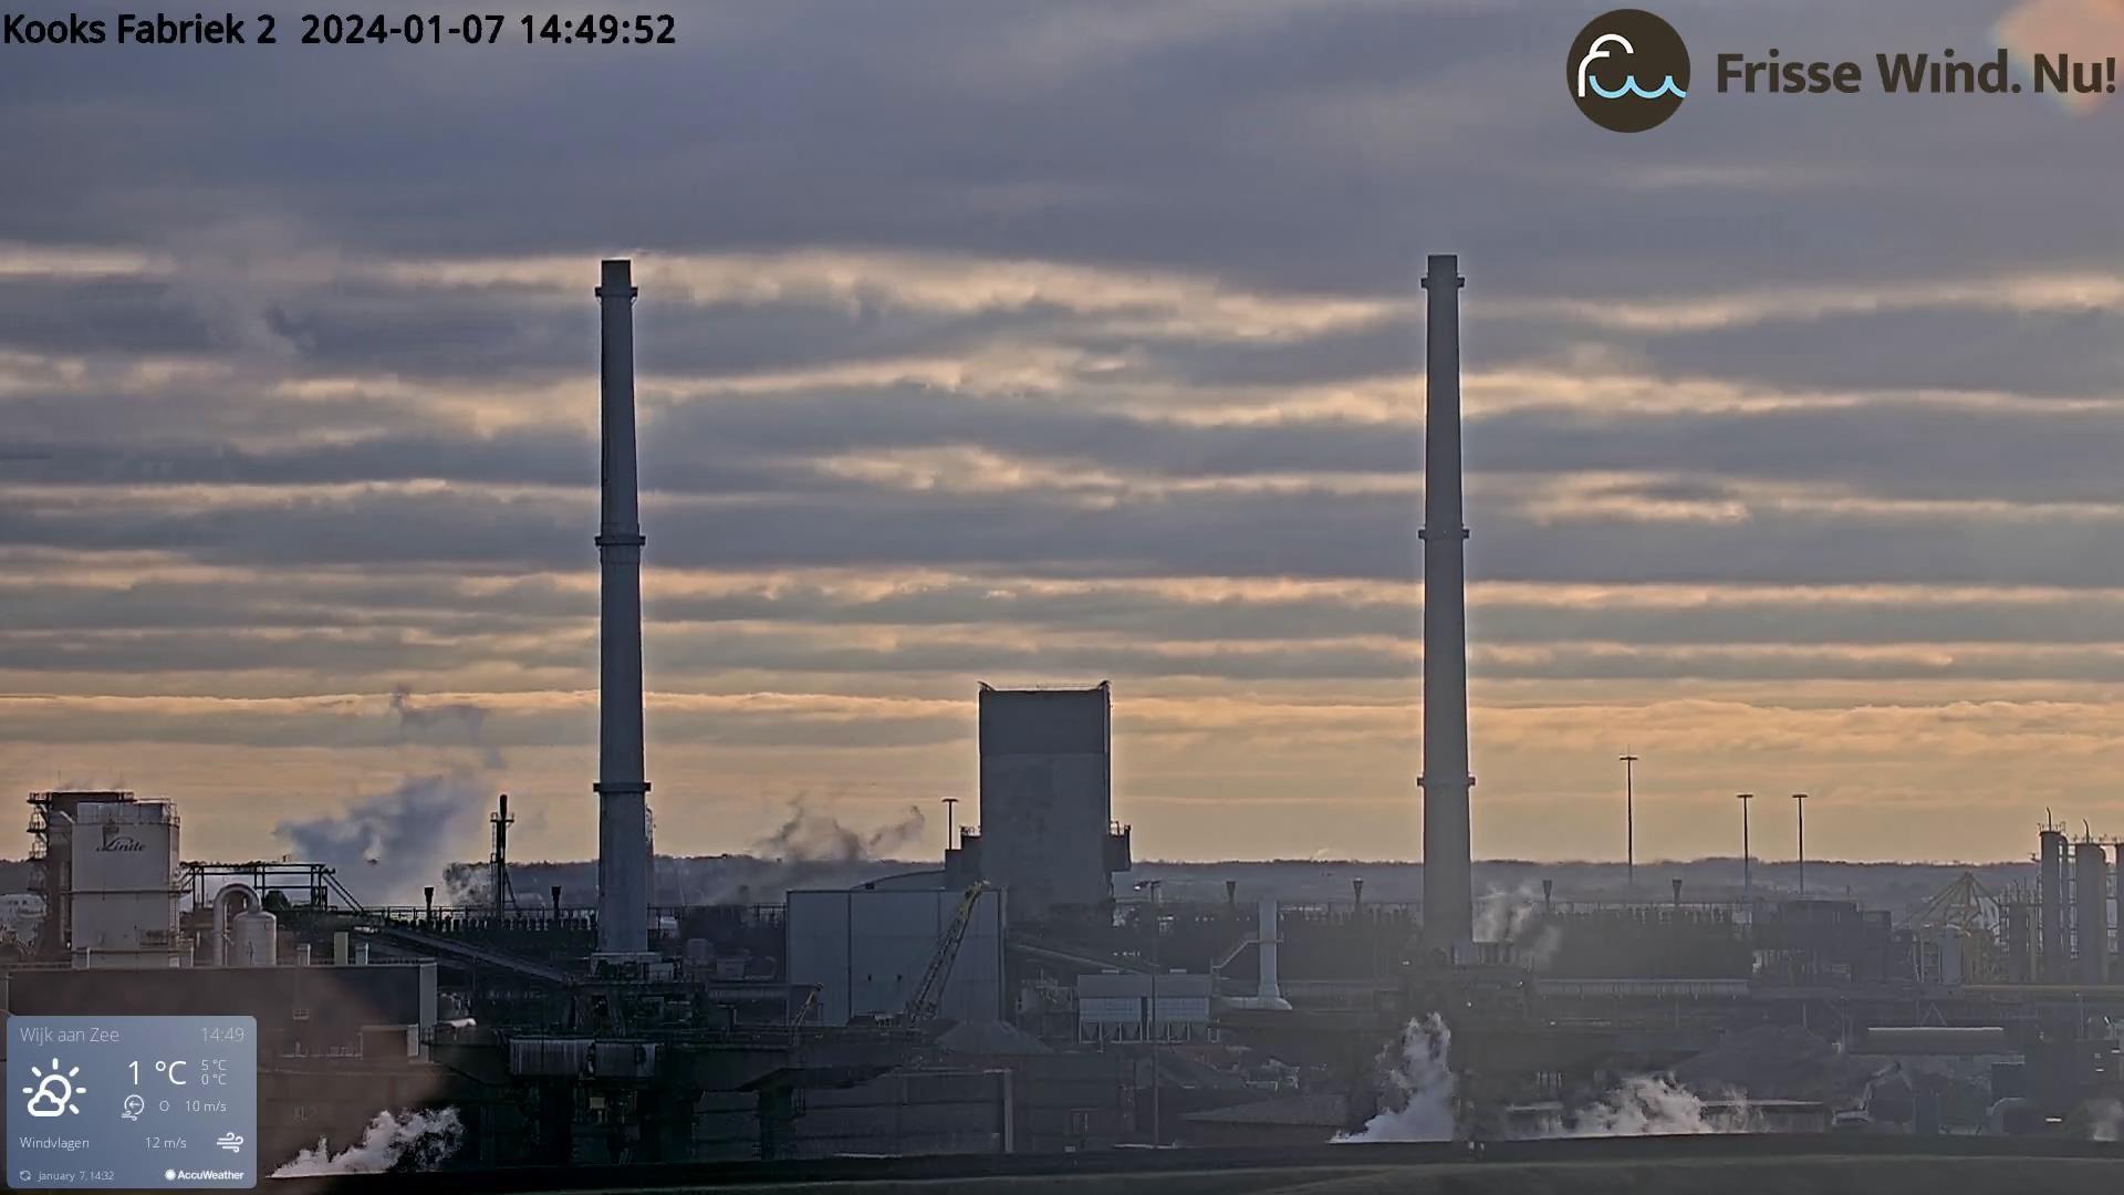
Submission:
M 168 800 L 45 791 L 4 1008 L 255 1016 L 268 1161 L 353 1146 L 380 1112 L 446 1116 L 450 1148 L 421 1157 L 440 1167 L 1669 1127 L 2113 1140 L 2124 859 L 2090 827 L 2041 829 L 2026 885 L 1969 876 L 1905 914 L 1754 882 L 1474 891 L 1461 287 L 1429 257 L 1421 902 L 1117 880 L 1128 693 L 969 678 L 979 789 L 935 865 L 656 904 L 637 289 L 603 262 L 597 891 L 510 880 L 506 797 L 480 902 L 374 908 L 323 863 L 187 857 Z

